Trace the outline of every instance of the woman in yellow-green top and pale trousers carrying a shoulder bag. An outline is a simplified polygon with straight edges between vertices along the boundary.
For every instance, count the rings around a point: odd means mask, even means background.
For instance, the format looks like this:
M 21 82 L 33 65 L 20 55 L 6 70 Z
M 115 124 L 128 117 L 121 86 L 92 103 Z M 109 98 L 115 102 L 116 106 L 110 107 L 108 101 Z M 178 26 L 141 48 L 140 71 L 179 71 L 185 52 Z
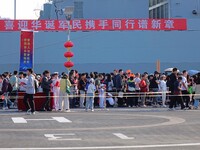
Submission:
M 63 74 L 62 79 L 60 80 L 60 99 L 59 99 L 59 111 L 70 112 L 69 108 L 69 94 L 70 94 L 71 82 L 69 81 L 69 76 Z M 64 101 L 64 109 L 63 109 Z

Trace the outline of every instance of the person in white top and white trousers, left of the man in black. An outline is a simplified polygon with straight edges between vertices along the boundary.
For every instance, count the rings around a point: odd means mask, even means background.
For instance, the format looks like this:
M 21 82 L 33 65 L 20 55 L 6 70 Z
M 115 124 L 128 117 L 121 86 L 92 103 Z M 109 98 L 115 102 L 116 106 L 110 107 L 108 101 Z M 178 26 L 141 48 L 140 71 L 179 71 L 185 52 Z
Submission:
M 162 75 L 160 77 L 159 88 L 160 91 L 162 92 L 162 106 L 166 108 L 167 106 L 165 105 L 165 102 L 166 102 L 167 84 L 165 75 Z

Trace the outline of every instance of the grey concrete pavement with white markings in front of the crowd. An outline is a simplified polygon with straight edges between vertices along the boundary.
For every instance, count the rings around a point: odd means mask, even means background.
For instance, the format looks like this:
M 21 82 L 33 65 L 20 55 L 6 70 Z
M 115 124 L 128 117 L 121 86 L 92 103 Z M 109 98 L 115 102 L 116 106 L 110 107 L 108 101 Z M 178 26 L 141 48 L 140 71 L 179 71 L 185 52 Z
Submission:
M 1 149 L 200 149 L 200 111 L 113 108 L 109 111 L 0 111 Z

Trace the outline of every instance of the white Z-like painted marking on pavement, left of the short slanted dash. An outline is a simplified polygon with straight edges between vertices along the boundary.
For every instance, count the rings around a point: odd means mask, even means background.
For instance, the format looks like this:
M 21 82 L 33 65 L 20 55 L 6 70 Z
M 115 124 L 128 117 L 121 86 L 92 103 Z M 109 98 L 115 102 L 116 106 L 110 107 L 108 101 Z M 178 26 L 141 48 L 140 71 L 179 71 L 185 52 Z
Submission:
M 63 138 L 63 136 L 75 136 L 74 133 L 69 134 L 45 134 L 49 141 L 81 141 L 80 138 Z

